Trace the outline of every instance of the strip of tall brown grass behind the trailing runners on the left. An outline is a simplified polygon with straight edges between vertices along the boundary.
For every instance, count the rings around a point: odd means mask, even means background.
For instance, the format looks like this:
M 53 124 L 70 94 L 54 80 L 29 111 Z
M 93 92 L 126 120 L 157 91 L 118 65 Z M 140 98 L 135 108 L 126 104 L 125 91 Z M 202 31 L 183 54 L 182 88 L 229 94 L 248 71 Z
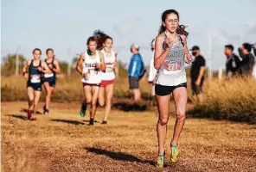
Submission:
M 146 78 L 140 81 L 140 89 L 143 92 L 143 98 L 150 100 L 151 84 Z M 2 101 L 27 101 L 26 80 L 22 77 L 3 77 L 1 84 Z M 44 99 L 44 90 L 42 92 L 42 101 Z M 115 80 L 114 87 L 115 98 L 131 98 L 129 92 L 128 77 L 119 77 Z M 74 75 L 72 77 L 59 78 L 56 83 L 56 89 L 52 100 L 55 102 L 72 102 L 81 101 L 83 99 L 83 90 L 80 77 Z

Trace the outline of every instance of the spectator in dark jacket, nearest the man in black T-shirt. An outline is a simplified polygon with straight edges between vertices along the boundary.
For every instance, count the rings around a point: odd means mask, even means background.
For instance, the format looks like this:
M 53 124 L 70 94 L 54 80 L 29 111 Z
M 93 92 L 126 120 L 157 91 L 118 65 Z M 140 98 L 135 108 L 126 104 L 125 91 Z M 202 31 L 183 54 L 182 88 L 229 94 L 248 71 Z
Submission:
M 234 46 L 226 45 L 224 54 L 227 56 L 226 77 L 234 76 L 240 67 L 240 58 L 234 54 Z

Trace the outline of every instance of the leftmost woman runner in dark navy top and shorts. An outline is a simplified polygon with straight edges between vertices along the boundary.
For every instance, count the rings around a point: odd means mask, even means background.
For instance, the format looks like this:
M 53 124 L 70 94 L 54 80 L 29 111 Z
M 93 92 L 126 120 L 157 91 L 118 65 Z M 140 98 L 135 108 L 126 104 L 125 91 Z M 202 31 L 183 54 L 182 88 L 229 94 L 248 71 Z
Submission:
M 29 120 L 36 120 L 34 114 L 37 112 L 37 105 L 42 91 L 42 74 L 51 73 L 51 71 L 48 69 L 48 65 L 40 59 L 41 54 L 41 50 L 39 48 L 35 48 L 33 50 L 34 58 L 27 61 L 22 69 L 23 76 L 28 79 L 27 90 L 29 95 Z M 32 115 L 33 108 L 34 114 Z

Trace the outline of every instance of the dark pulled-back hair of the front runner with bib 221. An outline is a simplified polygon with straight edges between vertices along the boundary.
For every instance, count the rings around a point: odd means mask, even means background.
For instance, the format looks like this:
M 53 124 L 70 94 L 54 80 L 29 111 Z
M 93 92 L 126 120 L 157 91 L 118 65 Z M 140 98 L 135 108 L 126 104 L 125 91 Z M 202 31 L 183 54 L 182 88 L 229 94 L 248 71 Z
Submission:
M 166 19 L 167 15 L 170 15 L 171 13 L 176 14 L 177 17 L 178 17 L 178 20 L 180 20 L 180 15 L 175 9 L 168 9 L 168 10 L 165 10 L 162 14 L 162 22 L 165 22 L 165 19 Z M 184 34 L 185 36 L 188 36 L 189 33 L 185 30 L 185 28 L 187 28 L 187 27 L 184 26 L 184 25 L 179 25 L 179 27 L 176 30 L 176 33 L 177 34 Z M 160 28 L 159 28 L 158 34 L 163 34 L 163 32 L 165 30 L 166 30 L 166 28 L 163 26 L 163 23 L 162 23 Z

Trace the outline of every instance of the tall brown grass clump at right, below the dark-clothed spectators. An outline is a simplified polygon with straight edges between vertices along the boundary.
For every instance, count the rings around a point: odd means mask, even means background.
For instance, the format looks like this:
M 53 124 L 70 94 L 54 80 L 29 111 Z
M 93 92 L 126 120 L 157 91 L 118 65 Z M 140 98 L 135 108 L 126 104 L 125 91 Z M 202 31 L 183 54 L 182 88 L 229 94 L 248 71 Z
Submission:
M 214 80 L 205 86 L 205 101 L 195 106 L 197 117 L 245 121 L 256 124 L 256 80 Z

